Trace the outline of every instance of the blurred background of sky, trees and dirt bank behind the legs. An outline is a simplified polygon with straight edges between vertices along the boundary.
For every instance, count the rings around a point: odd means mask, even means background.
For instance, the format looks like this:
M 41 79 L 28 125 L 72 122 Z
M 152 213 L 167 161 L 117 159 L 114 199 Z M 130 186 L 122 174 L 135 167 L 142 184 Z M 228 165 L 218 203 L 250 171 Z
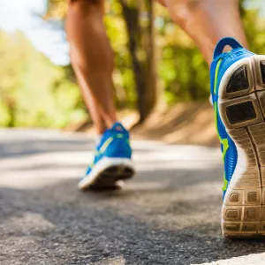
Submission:
M 65 0 L 0 4 L 0 126 L 86 129 L 90 117 L 64 33 Z M 240 9 L 251 49 L 265 54 L 264 1 L 240 1 Z M 167 11 L 148 0 L 106 0 L 105 25 L 121 119 L 140 121 L 137 132 L 153 138 L 215 142 L 208 65 Z

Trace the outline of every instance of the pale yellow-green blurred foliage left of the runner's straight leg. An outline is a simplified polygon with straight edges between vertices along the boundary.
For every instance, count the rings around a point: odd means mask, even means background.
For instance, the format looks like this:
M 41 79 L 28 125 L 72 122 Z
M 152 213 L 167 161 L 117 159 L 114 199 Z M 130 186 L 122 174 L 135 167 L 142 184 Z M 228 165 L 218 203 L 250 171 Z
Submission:
M 23 34 L 0 32 L 0 125 L 62 127 L 82 119 L 77 85 Z

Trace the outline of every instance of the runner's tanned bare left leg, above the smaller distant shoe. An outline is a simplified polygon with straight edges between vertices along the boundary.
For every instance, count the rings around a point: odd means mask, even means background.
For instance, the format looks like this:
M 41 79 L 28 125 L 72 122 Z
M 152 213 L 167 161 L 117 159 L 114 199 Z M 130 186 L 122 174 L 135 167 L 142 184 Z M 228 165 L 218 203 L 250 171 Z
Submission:
M 67 0 L 66 31 L 82 94 L 97 132 L 116 121 L 111 74 L 113 52 L 103 26 L 104 0 Z

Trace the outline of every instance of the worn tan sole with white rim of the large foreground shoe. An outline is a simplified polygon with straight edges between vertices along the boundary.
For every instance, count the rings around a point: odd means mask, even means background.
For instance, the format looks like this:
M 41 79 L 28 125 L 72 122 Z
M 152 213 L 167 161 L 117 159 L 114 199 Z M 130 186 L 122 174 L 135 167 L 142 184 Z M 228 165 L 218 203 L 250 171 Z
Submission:
M 238 150 L 223 200 L 223 235 L 265 237 L 265 56 L 231 65 L 220 83 L 218 108 Z

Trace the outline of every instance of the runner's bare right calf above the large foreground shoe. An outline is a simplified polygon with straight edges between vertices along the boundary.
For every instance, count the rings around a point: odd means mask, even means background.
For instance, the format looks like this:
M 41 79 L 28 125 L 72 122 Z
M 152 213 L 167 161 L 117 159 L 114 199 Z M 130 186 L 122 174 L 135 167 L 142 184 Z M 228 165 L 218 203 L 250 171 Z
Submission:
M 216 42 L 223 37 L 234 37 L 247 48 L 238 0 L 158 1 L 168 7 L 171 18 L 193 38 L 208 64 Z

